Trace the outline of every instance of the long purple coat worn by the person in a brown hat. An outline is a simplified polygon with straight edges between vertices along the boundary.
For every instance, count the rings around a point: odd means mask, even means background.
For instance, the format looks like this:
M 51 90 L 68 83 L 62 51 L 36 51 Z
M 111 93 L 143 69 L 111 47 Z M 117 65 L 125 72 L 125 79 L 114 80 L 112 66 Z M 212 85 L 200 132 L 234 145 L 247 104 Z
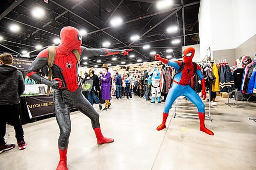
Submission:
M 103 80 L 105 78 L 105 80 Z M 109 71 L 106 74 L 102 74 L 100 78 L 101 83 L 101 93 L 102 93 L 102 100 L 110 100 L 110 90 L 111 90 L 111 74 Z

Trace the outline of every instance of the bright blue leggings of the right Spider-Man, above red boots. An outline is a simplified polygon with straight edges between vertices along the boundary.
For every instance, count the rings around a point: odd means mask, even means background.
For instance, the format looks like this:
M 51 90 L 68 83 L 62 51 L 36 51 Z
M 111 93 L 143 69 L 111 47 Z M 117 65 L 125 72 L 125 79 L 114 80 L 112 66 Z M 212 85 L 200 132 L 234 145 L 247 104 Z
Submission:
M 204 113 L 204 103 L 196 91 L 194 91 L 189 85 L 182 86 L 175 82 L 173 82 L 173 86 L 168 92 L 163 112 L 169 113 L 174 101 L 181 95 L 185 96 L 190 102 L 194 103 L 198 108 L 198 112 Z

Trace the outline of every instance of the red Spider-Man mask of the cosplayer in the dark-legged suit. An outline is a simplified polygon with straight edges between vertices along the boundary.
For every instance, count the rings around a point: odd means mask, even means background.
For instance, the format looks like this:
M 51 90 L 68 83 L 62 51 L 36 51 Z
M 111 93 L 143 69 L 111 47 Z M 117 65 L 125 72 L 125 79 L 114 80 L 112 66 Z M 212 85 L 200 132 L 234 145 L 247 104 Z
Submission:
M 61 42 L 59 47 L 67 51 L 78 50 L 82 44 L 82 36 L 74 27 L 64 27 L 60 31 Z

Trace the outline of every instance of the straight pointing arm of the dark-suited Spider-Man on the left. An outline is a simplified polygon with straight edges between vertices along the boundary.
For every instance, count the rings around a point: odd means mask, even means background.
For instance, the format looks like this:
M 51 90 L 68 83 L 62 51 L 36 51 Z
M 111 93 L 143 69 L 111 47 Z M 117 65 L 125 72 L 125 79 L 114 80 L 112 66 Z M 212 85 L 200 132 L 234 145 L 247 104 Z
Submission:
M 87 56 L 87 57 L 110 56 L 110 55 L 118 55 L 118 54 L 127 56 L 129 55 L 130 51 L 132 51 L 132 49 L 111 50 L 107 48 L 87 48 L 87 47 L 81 46 L 81 55 Z

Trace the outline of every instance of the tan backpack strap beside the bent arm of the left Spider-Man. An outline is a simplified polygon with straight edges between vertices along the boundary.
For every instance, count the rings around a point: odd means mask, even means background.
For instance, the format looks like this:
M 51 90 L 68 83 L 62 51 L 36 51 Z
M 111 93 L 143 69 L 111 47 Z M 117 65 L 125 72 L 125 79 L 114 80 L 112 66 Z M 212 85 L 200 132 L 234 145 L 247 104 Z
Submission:
M 49 46 L 48 47 L 48 57 L 47 57 L 47 65 L 49 68 L 49 75 L 48 75 L 48 80 L 51 81 L 52 80 L 52 66 L 55 62 L 55 58 L 56 58 L 56 49 L 55 46 Z M 50 93 L 50 86 L 47 87 L 47 93 L 46 95 L 49 96 Z

